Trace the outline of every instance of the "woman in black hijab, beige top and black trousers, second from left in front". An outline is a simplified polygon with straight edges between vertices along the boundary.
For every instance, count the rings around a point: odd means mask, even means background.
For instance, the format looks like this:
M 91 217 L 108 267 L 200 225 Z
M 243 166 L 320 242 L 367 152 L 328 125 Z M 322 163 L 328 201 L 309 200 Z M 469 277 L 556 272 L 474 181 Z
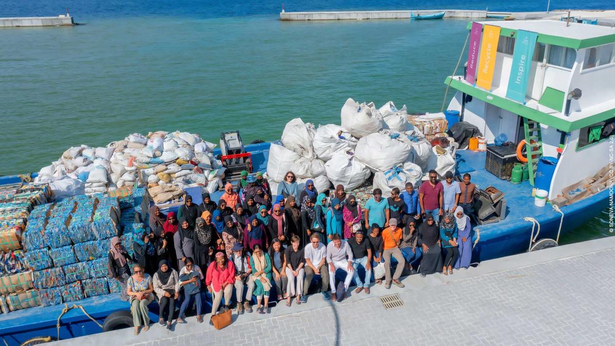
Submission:
M 171 330 L 173 313 L 175 313 L 175 300 L 180 293 L 180 280 L 177 270 L 170 267 L 169 262 L 161 260 L 158 264 L 158 271 L 154 273 L 154 292 L 158 296 L 159 315 L 158 323 L 161 326 L 166 324 L 167 329 Z M 164 313 L 169 305 L 169 315 L 164 318 Z

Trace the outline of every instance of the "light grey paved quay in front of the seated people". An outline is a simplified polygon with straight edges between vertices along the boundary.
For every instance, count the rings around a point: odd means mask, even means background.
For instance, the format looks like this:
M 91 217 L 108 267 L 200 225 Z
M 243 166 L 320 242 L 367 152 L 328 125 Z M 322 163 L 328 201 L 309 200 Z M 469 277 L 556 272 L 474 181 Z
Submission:
M 66 344 L 157 345 L 608 345 L 615 344 L 615 237 L 483 262 L 453 276 L 418 275 L 341 304 L 320 294 L 271 315 L 239 316 L 216 331 L 194 319 L 175 332 L 154 325 Z M 379 296 L 405 306 L 385 310 Z M 236 315 L 234 315 L 236 318 Z

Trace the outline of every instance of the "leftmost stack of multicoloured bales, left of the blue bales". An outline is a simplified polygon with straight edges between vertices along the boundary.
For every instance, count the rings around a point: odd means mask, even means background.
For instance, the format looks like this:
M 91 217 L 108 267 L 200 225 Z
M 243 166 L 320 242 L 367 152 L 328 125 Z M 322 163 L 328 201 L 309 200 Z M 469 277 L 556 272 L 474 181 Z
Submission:
M 22 250 L 22 233 L 33 208 L 50 198 L 47 185 L 9 185 L 0 190 L 0 310 L 40 305 Z

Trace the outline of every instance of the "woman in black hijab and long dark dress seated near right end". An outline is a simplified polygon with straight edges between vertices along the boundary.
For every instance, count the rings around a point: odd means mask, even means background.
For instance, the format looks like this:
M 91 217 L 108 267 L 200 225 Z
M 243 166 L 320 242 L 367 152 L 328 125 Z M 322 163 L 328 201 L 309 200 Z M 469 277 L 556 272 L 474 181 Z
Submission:
M 421 276 L 442 270 L 442 251 L 440 249 L 440 230 L 435 224 L 434 215 L 427 214 L 425 222 L 419 227 L 419 239 L 416 242 L 423 249 Z

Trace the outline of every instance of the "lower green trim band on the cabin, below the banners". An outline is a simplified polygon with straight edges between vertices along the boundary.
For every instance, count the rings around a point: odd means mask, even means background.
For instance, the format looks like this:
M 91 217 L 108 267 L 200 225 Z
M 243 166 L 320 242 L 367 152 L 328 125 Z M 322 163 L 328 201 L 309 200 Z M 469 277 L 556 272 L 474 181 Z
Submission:
M 454 89 L 457 89 L 458 91 L 464 92 L 468 95 L 472 95 L 472 97 L 476 97 L 483 102 L 490 103 L 491 105 L 523 116 L 524 118 L 536 121 L 537 123 L 545 124 L 550 127 L 555 127 L 556 129 L 564 132 L 578 130 L 582 127 L 587 127 L 600 121 L 611 119 L 615 116 L 615 108 L 613 108 L 611 110 L 603 111 L 592 116 L 587 116 L 583 119 L 579 119 L 576 121 L 568 121 L 557 118 L 553 115 L 549 115 L 547 113 L 543 113 L 539 110 L 534 110 L 533 108 L 526 107 L 525 105 L 522 105 L 521 103 L 515 102 L 513 100 L 509 100 L 504 97 L 491 94 L 491 92 L 483 91 L 482 89 L 470 86 L 463 81 L 459 81 L 458 79 L 451 80 L 450 77 L 446 77 L 445 84 L 449 83 L 450 86 Z M 490 97 L 490 99 L 487 99 L 487 97 Z

